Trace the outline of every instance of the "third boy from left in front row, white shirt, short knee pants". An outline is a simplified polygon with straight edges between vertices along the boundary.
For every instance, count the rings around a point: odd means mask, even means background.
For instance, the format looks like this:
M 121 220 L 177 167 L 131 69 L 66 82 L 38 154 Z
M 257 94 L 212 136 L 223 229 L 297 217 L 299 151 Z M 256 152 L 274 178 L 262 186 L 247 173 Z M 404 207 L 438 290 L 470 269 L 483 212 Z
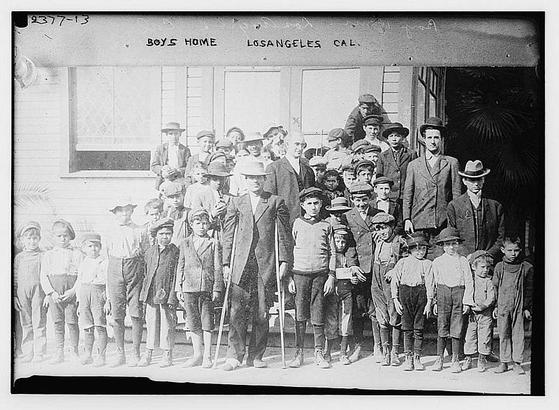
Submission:
M 78 266 L 76 291 L 85 334 L 85 357 L 82 359 L 82 365 L 93 363 L 94 367 L 103 367 L 106 363 L 107 315 L 110 312 L 110 302 L 106 293 L 108 259 L 100 255 L 101 235 L 95 232 L 83 235 L 82 251 L 85 258 Z M 92 352 L 95 330 L 99 356 L 94 361 Z

